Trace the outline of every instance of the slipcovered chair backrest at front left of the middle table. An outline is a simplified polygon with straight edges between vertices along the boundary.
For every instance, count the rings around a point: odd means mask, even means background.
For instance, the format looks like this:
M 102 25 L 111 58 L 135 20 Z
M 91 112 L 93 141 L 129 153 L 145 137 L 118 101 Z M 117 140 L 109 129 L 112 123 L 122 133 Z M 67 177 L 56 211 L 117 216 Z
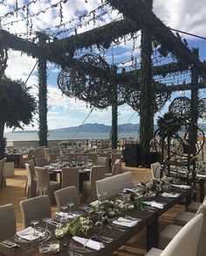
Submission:
M 37 195 L 42 196 L 50 193 L 50 174 L 45 167 L 35 167 L 37 174 Z

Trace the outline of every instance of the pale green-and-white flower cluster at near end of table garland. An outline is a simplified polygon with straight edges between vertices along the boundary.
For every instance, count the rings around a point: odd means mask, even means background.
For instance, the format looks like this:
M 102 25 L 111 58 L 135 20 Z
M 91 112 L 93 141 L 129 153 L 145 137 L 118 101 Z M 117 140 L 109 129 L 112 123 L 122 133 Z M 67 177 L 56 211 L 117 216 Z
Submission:
M 58 229 L 64 231 L 64 234 L 70 233 L 72 236 L 86 236 L 87 232 L 93 229 L 92 222 L 87 217 L 78 217 L 71 222 L 60 224 Z

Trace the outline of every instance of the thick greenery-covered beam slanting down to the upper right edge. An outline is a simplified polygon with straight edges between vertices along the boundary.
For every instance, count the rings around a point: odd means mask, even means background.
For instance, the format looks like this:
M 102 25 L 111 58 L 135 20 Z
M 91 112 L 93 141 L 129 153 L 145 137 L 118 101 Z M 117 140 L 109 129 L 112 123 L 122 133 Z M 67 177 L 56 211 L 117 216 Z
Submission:
M 201 75 L 206 74 L 203 62 L 182 43 L 181 39 L 175 37 L 173 32 L 148 8 L 147 4 L 141 0 L 108 0 L 108 3 L 122 12 L 125 17 L 141 25 L 141 28 L 147 28 L 150 35 L 154 36 L 157 42 L 168 52 L 173 53 L 177 59 L 194 65 Z

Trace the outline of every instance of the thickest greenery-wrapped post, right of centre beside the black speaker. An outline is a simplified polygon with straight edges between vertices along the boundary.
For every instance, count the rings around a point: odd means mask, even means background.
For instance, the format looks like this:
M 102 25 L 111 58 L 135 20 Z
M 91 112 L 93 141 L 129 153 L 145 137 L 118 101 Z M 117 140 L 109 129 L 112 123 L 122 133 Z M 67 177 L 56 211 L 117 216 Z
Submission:
M 145 0 L 152 9 L 153 1 Z M 150 140 L 154 132 L 154 87 L 152 82 L 152 38 L 147 28 L 141 30 L 141 103 L 140 141 L 142 164 L 147 164 L 150 153 Z

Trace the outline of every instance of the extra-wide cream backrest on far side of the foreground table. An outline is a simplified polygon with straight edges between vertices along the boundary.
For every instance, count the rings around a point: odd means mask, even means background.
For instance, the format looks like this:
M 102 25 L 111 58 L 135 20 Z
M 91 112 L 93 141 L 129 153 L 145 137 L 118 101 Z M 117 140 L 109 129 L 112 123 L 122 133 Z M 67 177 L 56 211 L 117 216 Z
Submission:
M 134 188 L 133 175 L 131 172 L 117 174 L 104 180 L 96 181 L 97 193 L 100 201 L 111 196 L 118 195 L 123 188 Z

